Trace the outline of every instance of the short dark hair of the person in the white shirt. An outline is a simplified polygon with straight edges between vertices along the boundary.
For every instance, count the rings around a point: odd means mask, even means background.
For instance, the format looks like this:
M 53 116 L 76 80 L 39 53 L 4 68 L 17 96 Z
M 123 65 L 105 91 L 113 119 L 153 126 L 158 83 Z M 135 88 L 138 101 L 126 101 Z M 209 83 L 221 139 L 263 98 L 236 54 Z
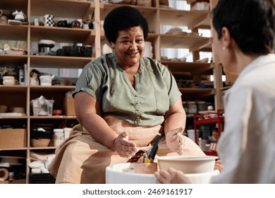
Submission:
M 228 28 L 244 54 L 274 52 L 273 0 L 220 0 L 213 10 L 212 23 L 219 39 L 221 29 Z

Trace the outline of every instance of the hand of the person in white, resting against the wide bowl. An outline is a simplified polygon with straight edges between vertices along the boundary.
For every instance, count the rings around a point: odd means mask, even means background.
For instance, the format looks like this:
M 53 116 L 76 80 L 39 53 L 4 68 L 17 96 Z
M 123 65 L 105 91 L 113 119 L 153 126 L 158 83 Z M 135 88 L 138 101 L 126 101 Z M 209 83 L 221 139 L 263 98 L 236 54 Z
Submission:
M 190 184 L 188 177 L 174 168 L 159 170 L 154 175 L 157 177 L 157 184 Z

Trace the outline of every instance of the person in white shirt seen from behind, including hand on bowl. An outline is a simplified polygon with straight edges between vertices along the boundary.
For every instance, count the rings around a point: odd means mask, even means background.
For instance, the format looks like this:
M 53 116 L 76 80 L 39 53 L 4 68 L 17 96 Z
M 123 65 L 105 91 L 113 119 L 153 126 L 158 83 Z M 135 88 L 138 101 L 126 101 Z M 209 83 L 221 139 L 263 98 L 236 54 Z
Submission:
M 224 98 L 224 170 L 211 182 L 275 183 L 274 1 L 220 0 L 212 23 L 214 54 L 238 78 Z M 159 183 L 190 182 L 175 169 L 155 175 Z

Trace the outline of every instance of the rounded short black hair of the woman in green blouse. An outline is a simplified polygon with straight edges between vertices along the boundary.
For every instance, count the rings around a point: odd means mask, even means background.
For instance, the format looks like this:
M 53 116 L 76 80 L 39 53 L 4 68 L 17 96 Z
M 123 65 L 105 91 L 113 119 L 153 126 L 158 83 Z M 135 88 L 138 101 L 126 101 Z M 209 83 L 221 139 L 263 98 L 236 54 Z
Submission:
M 114 8 L 104 19 L 105 36 L 109 42 L 116 42 L 118 31 L 140 26 L 146 38 L 149 32 L 148 22 L 137 8 L 120 6 Z

